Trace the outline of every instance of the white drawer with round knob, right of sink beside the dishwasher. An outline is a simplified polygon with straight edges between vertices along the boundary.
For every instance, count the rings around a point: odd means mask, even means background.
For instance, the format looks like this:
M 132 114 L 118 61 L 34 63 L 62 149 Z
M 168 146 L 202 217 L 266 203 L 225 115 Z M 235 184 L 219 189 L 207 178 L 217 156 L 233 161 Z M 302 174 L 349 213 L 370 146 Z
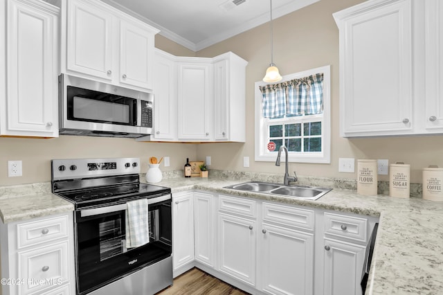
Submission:
M 368 240 L 368 219 L 325 213 L 325 234 L 361 242 Z

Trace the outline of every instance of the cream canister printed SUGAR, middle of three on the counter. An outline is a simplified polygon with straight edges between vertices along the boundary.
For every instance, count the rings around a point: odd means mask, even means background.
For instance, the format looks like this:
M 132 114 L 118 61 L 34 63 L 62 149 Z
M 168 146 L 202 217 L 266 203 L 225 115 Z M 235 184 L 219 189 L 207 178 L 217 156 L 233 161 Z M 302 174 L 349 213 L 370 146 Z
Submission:
M 389 195 L 391 197 L 410 196 L 410 165 L 402 162 L 389 166 Z

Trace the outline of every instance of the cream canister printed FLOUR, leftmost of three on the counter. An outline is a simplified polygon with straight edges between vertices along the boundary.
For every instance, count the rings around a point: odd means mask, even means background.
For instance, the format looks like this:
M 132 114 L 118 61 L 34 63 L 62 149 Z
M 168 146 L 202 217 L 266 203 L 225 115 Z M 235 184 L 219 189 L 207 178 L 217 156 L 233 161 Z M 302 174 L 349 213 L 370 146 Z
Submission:
M 357 161 L 357 193 L 377 195 L 377 160 Z

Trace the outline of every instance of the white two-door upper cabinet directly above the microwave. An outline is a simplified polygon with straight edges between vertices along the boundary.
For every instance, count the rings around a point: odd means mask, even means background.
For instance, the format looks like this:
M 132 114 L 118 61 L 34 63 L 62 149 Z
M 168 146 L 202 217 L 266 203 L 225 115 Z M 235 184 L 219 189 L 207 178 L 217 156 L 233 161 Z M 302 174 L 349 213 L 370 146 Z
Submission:
M 62 72 L 152 91 L 154 36 L 159 30 L 101 1 L 63 5 Z

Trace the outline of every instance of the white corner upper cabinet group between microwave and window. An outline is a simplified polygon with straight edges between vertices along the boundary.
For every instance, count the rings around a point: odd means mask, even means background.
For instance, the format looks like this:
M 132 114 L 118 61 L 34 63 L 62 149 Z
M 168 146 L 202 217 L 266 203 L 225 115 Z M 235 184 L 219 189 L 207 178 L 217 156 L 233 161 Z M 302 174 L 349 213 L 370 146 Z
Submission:
M 155 51 L 154 132 L 136 141 L 244 142 L 247 62 Z

